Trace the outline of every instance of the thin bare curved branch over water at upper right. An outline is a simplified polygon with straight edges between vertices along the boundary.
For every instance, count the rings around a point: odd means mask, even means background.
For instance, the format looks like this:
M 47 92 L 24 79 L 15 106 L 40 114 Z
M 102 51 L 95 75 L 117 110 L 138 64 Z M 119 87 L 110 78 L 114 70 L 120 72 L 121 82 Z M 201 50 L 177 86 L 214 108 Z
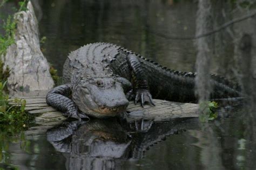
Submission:
M 155 34 L 156 36 L 159 36 L 159 37 L 162 37 L 162 38 L 165 38 L 165 39 L 172 39 L 172 40 L 192 40 L 192 39 L 198 39 L 198 38 L 201 38 L 201 37 L 207 37 L 207 36 L 211 36 L 211 34 L 214 34 L 216 32 L 219 32 L 221 30 L 224 30 L 226 27 L 228 26 L 231 26 L 233 25 L 234 23 L 239 23 L 245 19 L 248 19 L 248 18 L 251 18 L 251 17 L 254 17 L 256 15 L 256 11 L 253 12 L 253 13 L 250 13 L 248 15 L 245 15 L 245 16 L 242 16 L 242 17 L 239 17 L 239 18 L 235 18 L 233 20 L 231 20 L 230 22 L 227 22 L 219 27 L 217 27 L 217 29 L 214 29 L 210 32 L 206 32 L 206 33 L 203 33 L 203 34 L 200 34 L 198 36 L 188 36 L 188 37 L 176 37 L 176 36 L 167 36 L 163 33 L 159 33 L 159 32 L 154 32 L 152 30 L 150 30 L 150 32 L 152 32 L 153 34 Z

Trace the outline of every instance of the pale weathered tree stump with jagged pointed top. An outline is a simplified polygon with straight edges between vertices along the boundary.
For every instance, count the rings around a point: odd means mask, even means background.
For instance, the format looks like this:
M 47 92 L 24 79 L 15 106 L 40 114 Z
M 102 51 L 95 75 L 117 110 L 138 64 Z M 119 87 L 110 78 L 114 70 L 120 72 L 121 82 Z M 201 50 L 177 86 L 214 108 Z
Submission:
M 9 66 L 8 85 L 12 90 L 46 90 L 53 87 L 49 65 L 40 50 L 38 23 L 33 6 L 15 14 L 15 44 L 6 52 L 4 67 Z

